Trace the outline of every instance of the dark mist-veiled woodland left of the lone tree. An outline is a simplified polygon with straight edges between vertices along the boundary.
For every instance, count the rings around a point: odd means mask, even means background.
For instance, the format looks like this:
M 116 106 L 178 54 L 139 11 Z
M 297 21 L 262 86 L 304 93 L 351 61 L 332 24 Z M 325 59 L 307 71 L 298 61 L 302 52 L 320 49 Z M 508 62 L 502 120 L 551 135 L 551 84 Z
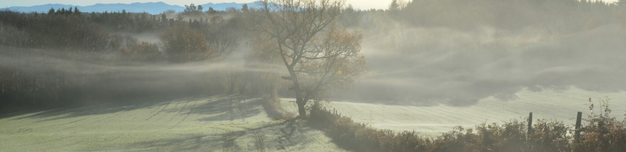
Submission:
M 244 33 L 243 11 L 212 14 L 0 11 L 0 111 L 196 94 L 260 94 L 268 86 L 228 63 Z M 76 9 L 78 11 L 78 9 Z M 232 18 L 223 19 L 222 15 Z M 140 41 L 155 33 L 158 42 Z M 240 58 L 254 61 L 244 54 Z M 197 63 L 201 62 L 201 63 Z M 221 68 L 202 71 L 202 64 Z M 161 67 L 185 69 L 176 73 Z M 249 66 L 249 65 L 243 65 Z M 259 65 L 252 65 L 259 66 Z M 184 72 L 184 70 L 183 70 Z M 242 80 L 247 79 L 247 80 Z M 245 84 L 244 84 L 245 83 Z M 237 89 L 235 89 L 237 87 Z M 269 87 L 272 88 L 272 87 Z

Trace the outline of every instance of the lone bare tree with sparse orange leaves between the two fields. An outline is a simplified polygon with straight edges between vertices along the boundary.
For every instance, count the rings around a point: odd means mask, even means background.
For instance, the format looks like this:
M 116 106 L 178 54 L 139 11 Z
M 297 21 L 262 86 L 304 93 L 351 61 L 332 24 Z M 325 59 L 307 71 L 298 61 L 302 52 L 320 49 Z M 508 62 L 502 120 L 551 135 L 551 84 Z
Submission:
M 331 89 L 347 88 L 364 73 L 360 33 L 337 29 L 342 0 L 264 0 L 257 12 L 247 13 L 252 31 L 264 36 L 267 53 L 279 56 L 292 82 L 300 116 L 310 99 L 324 98 Z M 267 48 L 267 47 L 266 47 Z

